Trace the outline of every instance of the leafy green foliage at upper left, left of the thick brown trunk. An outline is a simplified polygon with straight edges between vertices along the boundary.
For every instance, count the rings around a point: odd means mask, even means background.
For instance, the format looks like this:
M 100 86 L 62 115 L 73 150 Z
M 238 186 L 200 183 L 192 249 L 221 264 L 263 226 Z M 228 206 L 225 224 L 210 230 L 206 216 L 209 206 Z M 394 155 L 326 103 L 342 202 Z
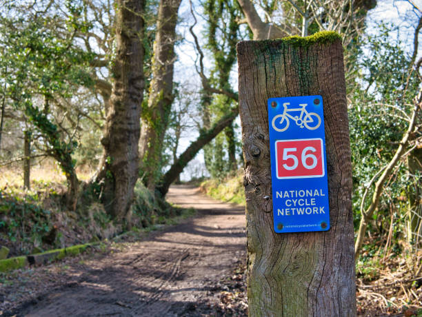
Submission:
M 0 82 L 16 110 L 21 110 L 48 143 L 48 154 L 59 161 L 66 175 L 74 174 L 71 154 L 77 147 L 61 123 L 54 122 L 52 106 L 56 99 L 69 99 L 81 86 L 93 84 L 88 66 L 94 54 L 74 45 L 77 32 L 87 32 L 90 23 L 81 22 L 83 6 L 66 1 L 66 19 L 59 16 L 32 15 L 14 6 L 1 16 Z M 12 15 L 12 10 L 20 14 Z M 65 30 L 51 25 L 63 22 Z

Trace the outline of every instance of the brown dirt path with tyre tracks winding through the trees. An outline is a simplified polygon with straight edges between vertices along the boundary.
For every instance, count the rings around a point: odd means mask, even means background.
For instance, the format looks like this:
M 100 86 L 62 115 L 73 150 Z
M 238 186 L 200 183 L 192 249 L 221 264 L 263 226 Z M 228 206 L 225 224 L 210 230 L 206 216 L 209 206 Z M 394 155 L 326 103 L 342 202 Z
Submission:
M 198 216 L 153 232 L 114 254 L 68 269 L 65 285 L 44 290 L 17 316 L 207 316 L 222 276 L 245 255 L 243 207 L 186 185 L 168 201 Z

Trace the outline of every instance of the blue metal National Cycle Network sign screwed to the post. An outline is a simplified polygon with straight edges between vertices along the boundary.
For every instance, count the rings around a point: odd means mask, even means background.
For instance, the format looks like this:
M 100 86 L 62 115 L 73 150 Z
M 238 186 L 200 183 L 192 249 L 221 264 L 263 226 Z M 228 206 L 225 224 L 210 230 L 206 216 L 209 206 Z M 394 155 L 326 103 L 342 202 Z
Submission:
M 268 99 L 274 230 L 327 231 L 327 159 L 322 96 Z

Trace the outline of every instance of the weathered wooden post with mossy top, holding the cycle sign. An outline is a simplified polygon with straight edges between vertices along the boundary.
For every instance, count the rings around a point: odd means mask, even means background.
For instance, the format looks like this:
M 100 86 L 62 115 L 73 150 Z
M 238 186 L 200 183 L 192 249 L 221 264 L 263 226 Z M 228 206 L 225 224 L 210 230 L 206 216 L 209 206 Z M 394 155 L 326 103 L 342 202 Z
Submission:
M 237 44 L 237 54 L 239 111 L 245 159 L 243 185 L 248 231 L 249 314 L 355 316 L 352 167 L 341 38 L 335 32 L 320 32 L 305 38 L 242 41 Z M 283 233 L 288 228 L 281 223 L 276 223 L 274 227 L 273 223 L 275 197 L 272 191 L 274 179 L 270 165 L 270 146 L 274 147 L 271 151 L 277 151 L 277 145 L 270 144 L 271 122 L 268 116 L 273 98 L 290 96 L 312 96 L 315 105 L 320 101 L 323 103 L 330 225 L 320 221 L 320 231 L 302 229 L 303 232 Z M 275 107 L 277 103 L 272 105 Z M 290 107 L 288 103 L 283 106 L 286 109 Z M 287 109 L 288 112 L 290 110 Z M 277 131 L 285 131 L 289 118 L 283 112 L 280 113 L 279 124 L 284 127 Z M 317 118 L 319 116 L 313 112 L 290 114 L 290 127 L 297 128 L 299 134 L 305 135 L 305 132 L 311 133 L 316 127 L 323 127 Z M 294 139 L 306 138 L 298 135 Z M 294 151 L 297 151 L 297 147 L 284 149 L 281 159 L 285 161 L 284 165 L 277 165 L 279 169 L 284 166 L 286 170 L 292 170 L 302 164 L 306 171 L 316 166 L 314 147 L 303 148 L 301 154 Z M 318 160 L 321 161 L 320 156 Z M 305 178 L 305 184 L 311 183 L 313 179 Z M 282 181 L 283 184 L 290 184 L 290 179 Z M 291 181 L 294 182 L 293 179 Z M 284 192 L 287 193 L 277 192 L 277 199 L 286 203 L 287 198 L 283 198 L 283 195 L 290 195 L 286 205 L 292 206 L 292 196 L 298 195 L 297 191 L 294 192 L 292 188 L 290 194 L 287 190 Z M 310 190 L 310 196 L 301 199 L 303 207 L 306 204 L 316 205 L 312 198 L 319 197 L 312 197 L 312 193 Z M 324 196 L 323 190 L 314 194 Z M 297 197 L 297 201 L 300 197 Z M 305 198 L 308 198 L 307 203 L 304 203 Z M 290 224 L 294 217 L 303 220 L 308 214 L 301 213 L 300 208 L 285 209 L 285 214 L 281 209 L 276 210 L 279 212 L 276 216 L 288 219 Z M 309 210 L 312 209 L 311 206 Z M 321 211 L 321 208 L 316 210 Z M 294 225 L 289 227 L 291 229 Z

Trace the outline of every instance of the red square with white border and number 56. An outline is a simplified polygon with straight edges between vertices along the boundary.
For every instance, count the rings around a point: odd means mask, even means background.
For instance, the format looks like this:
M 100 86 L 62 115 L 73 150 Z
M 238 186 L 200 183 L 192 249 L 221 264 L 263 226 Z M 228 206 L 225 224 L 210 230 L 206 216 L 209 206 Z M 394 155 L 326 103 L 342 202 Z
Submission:
M 277 178 L 322 177 L 325 174 L 322 139 L 275 142 Z

